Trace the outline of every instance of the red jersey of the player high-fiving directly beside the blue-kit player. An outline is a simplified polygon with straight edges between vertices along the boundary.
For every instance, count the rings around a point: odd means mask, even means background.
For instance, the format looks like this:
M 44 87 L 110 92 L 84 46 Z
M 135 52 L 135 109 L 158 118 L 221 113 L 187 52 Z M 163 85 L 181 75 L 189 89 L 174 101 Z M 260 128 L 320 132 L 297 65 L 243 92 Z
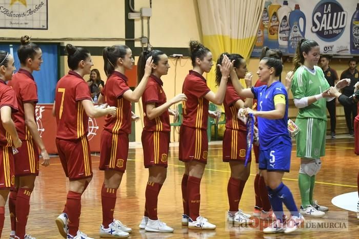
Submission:
M 235 107 L 235 102 L 237 102 L 237 100 L 244 101 L 244 99 L 238 96 L 232 82 L 228 82 L 226 96 L 223 102 L 226 114 L 226 128 L 247 131 L 246 125 L 242 122 L 242 120 L 237 118 L 237 108 Z

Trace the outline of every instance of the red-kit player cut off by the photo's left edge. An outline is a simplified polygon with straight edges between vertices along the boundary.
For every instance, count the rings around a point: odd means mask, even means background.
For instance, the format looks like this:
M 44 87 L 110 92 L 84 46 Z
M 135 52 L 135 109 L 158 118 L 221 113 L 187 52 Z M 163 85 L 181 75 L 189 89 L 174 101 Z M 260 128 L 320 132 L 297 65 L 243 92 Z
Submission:
M 11 187 L 14 187 L 14 157 L 12 147 L 21 147 L 11 114 L 17 111 L 14 90 L 5 82 L 11 80 L 15 70 L 14 58 L 0 51 L 0 237 L 5 220 L 5 203 Z

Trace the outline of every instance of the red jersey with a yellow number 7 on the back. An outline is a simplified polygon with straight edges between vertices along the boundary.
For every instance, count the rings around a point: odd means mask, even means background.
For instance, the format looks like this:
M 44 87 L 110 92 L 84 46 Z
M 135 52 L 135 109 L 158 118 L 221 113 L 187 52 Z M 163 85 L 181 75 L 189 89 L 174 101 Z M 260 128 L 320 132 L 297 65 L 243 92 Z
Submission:
M 74 71 L 59 79 L 55 91 L 57 139 L 76 140 L 88 134 L 89 117 L 82 100 L 92 100 L 86 81 Z

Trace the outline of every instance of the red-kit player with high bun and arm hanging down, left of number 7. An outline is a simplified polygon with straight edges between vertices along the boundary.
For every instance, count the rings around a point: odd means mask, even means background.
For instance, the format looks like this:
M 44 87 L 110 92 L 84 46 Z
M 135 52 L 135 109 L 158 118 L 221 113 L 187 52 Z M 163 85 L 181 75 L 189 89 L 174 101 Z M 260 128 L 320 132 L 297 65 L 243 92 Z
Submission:
M 18 112 L 14 114 L 13 119 L 23 144 L 18 149 L 18 154 L 14 155 L 15 188 L 9 196 L 10 237 L 31 239 L 33 237 L 25 234 L 25 230 L 30 211 L 30 196 L 39 170 L 38 148 L 44 160 L 42 165 L 48 166 L 50 163 L 49 154 L 37 131 L 35 120 L 35 106 L 38 101 L 37 85 L 32 76 L 33 71 L 40 70 L 43 59 L 41 49 L 30 42 L 29 36 L 21 37 L 21 46 L 17 50 L 17 56 L 21 67 L 12 76 L 9 86 L 16 93 Z

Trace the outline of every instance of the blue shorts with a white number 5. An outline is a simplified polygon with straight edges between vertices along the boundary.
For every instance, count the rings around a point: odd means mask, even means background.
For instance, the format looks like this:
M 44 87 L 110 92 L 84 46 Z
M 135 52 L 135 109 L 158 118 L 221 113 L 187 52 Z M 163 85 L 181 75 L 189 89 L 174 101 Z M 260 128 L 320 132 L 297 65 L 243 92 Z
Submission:
M 289 172 L 292 146 L 280 142 L 268 149 L 260 150 L 261 170 Z

